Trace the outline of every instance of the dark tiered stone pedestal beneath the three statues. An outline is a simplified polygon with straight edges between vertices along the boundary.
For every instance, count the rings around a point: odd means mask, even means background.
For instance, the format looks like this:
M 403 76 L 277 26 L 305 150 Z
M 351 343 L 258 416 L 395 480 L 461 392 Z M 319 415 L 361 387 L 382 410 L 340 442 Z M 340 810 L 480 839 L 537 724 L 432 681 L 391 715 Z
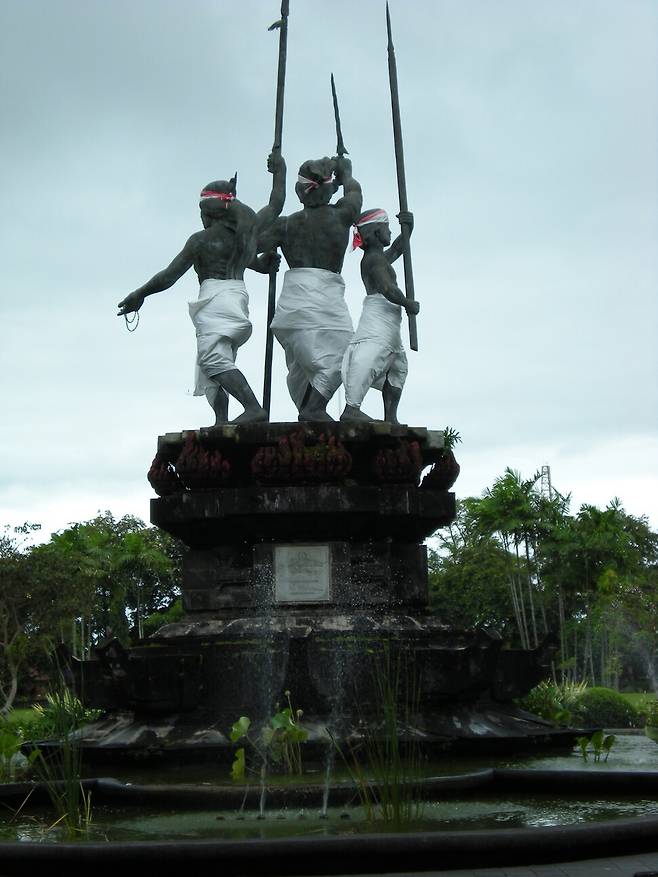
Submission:
M 383 650 L 403 662 L 406 733 L 427 748 L 564 745 L 511 703 L 548 649 L 510 662 L 497 634 L 429 612 L 424 540 L 454 517 L 455 467 L 441 432 L 375 422 L 162 436 L 151 520 L 188 546 L 186 614 L 85 662 L 88 702 L 111 709 L 85 732 L 88 754 L 228 757 L 231 724 L 267 720 L 285 690 L 311 748 L 326 746 L 327 727 L 341 739 L 376 714 Z

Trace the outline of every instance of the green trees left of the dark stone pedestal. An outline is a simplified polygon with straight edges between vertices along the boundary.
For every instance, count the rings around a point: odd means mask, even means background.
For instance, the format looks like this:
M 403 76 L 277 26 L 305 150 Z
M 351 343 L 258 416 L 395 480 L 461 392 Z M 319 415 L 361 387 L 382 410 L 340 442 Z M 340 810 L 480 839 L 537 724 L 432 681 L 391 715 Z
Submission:
M 182 546 L 163 531 L 105 512 L 29 545 L 38 529 L 0 533 L 0 714 L 58 644 L 79 658 L 107 637 L 127 645 L 180 605 Z

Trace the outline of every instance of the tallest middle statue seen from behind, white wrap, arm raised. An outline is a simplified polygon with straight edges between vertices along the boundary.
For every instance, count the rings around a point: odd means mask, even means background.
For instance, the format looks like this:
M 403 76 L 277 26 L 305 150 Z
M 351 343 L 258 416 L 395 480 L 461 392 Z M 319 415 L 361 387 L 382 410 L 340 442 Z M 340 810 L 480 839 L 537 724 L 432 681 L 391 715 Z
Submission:
M 330 204 L 339 186 L 343 197 Z M 341 155 L 304 162 L 295 191 L 303 209 L 279 217 L 260 236 L 258 249 L 281 247 L 289 266 L 271 328 L 286 353 L 288 390 L 299 419 L 331 420 L 327 402 L 340 386 L 353 334 L 340 272 L 363 198 L 351 161 Z

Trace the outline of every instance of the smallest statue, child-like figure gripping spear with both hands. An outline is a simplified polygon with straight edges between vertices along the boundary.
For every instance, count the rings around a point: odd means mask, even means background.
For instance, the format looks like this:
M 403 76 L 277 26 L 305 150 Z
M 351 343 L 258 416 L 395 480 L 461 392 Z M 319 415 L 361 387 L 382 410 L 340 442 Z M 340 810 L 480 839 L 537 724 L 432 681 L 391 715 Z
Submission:
M 411 235 L 413 214 L 400 212 L 399 219 Z M 406 298 L 396 283 L 391 263 L 402 255 L 404 240 L 399 235 L 388 246 L 391 230 L 386 212 L 368 210 L 357 219 L 355 227 L 354 247 L 364 250 L 361 278 L 367 295 L 359 325 L 343 357 L 346 404 L 340 419 L 372 420 L 361 411 L 361 403 L 370 387 L 376 387 L 382 391 L 384 420 L 398 423 L 398 404 L 407 377 L 407 355 L 400 336 L 402 308 L 415 315 L 420 305 Z

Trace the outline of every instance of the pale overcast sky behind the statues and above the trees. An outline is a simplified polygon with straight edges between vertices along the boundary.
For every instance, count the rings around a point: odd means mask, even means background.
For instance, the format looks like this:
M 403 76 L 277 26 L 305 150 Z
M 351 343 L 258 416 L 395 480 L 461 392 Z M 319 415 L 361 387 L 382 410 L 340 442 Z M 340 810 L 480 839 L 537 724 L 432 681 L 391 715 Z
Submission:
M 458 496 L 548 464 L 574 511 L 619 496 L 658 526 L 658 4 L 390 6 L 422 306 L 401 419 L 461 432 Z M 149 298 L 134 334 L 116 303 L 200 228 L 205 183 L 237 169 L 241 200 L 266 203 L 278 15 L 276 0 L 0 0 L 0 523 L 148 520 L 157 436 L 212 422 L 190 395 L 196 276 Z M 364 207 L 392 216 L 379 0 L 291 0 L 284 212 L 299 164 L 335 151 L 332 71 Z M 238 365 L 260 395 L 266 278 L 246 279 Z M 292 420 L 278 347 L 274 368 L 273 419 Z

